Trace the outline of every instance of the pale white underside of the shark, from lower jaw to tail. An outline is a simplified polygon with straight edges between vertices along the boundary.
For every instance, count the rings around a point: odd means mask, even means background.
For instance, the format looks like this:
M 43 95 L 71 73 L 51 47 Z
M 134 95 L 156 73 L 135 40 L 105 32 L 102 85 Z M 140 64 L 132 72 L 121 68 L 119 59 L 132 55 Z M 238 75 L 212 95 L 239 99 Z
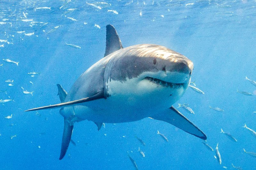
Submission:
M 126 82 L 109 81 L 107 87 L 110 95 L 107 99 L 86 102 L 85 106 L 66 107 L 64 114 L 72 112 L 75 121 L 133 122 L 161 113 L 185 92 L 183 86 L 171 88 L 137 78 Z

